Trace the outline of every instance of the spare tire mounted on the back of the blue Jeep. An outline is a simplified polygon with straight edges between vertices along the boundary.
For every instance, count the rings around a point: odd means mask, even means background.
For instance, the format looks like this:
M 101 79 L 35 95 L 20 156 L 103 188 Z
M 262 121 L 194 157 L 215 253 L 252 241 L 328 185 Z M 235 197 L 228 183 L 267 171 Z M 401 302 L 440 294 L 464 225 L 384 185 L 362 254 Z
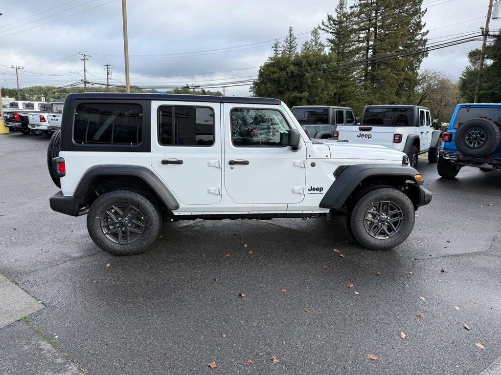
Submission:
M 493 152 L 501 141 L 499 126 L 487 118 L 472 118 L 459 125 L 454 143 L 465 156 L 482 157 Z

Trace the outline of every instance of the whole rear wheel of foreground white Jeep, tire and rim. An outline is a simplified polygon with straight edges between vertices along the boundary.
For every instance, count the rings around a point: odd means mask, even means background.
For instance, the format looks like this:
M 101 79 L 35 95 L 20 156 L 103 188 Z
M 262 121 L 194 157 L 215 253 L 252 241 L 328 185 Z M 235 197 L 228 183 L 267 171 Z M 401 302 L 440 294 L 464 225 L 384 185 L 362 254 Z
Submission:
M 87 229 L 94 243 L 114 255 L 143 252 L 155 241 L 160 226 L 155 205 L 130 190 L 102 194 L 87 215 Z

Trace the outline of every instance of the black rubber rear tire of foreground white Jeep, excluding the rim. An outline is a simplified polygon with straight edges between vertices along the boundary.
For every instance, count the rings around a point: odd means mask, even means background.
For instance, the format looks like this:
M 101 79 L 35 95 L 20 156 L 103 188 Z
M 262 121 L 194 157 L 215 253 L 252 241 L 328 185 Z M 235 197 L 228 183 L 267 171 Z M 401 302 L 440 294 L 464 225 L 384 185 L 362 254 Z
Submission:
M 119 244 L 110 240 L 102 229 L 102 216 L 113 205 L 126 204 L 142 214 L 144 230 L 131 243 Z M 91 205 L 87 214 L 87 230 L 96 245 L 110 254 L 135 255 L 146 250 L 155 241 L 161 228 L 158 208 L 145 196 L 131 190 L 113 190 L 102 194 Z

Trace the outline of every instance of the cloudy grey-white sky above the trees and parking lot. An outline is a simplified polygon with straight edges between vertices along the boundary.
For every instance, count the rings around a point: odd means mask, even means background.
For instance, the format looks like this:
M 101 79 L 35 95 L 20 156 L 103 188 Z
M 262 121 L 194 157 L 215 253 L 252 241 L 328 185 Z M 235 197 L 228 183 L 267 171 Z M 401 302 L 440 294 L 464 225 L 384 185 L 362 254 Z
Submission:
M 412 1 L 412 0 L 409 0 Z M 488 0 L 423 0 L 430 42 L 478 30 L 485 23 Z M 254 78 L 271 54 L 274 39 L 291 25 L 303 43 L 334 0 L 128 0 L 131 83 L 179 86 L 223 85 Z M 16 86 L 11 65 L 24 66 L 20 85 L 62 86 L 82 78 L 79 52 L 91 55 L 87 79 L 123 84 L 120 0 L 18 0 L 0 2 L 0 85 Z M 499 28 L 501 21 L 492 21 Z M 449 36 L 450 35 L 450 36 Z M 431 51 L 422 68 L 447 72 L 453 79 L 467 63 L 473 41 Z M 248 95 L 248 85 L 226 94 Z M 221 89 L 221 88 L 214 88 Z

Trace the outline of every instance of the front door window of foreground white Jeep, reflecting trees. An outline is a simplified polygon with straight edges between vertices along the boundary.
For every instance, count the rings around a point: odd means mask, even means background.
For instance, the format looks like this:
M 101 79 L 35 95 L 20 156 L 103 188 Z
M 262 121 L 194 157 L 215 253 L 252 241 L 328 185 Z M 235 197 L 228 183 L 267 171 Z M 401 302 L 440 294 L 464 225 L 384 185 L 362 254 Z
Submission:
M 235 108 L 230 112 L 231 140 L 237 147 L 286 146 L 289 125 L 274 109 Z

